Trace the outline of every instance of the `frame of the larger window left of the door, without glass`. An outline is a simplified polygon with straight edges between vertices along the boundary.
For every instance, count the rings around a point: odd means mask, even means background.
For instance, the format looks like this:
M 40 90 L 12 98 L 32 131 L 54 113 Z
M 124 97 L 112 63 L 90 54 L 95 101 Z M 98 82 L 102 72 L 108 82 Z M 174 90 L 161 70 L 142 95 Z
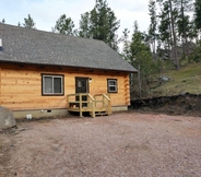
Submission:
M 45 91 L 45 88 L 46 88 L 46 86 L 45 86 L 45 78 L 52 78 L 52 85 L 51 85 L 51 87 L 52 87 L 52 93 L 49 93 L 49 92 L 46 92 Z M 54 91 L 54 79 L 60 79 L 61 80 L 61 93 L 55 93 L 55 91 Z M 44 95 L 44 96 L 46 96 L 46 95 L 52 95 L 52 96 L 62 96 L 62 95 L 64 95 L 64 75 L 62 75 L 62 74 L 42 74 L 42 95 Z

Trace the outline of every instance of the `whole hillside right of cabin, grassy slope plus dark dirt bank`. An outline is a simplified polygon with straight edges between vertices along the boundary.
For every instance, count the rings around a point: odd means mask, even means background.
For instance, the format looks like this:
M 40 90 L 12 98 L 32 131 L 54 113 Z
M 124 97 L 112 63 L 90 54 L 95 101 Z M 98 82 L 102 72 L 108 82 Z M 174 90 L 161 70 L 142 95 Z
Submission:
M 201 117 L 201 63 L 181 67 L 161 74 L 144 98 L 131 101 L 130 108 L 139 111 Z

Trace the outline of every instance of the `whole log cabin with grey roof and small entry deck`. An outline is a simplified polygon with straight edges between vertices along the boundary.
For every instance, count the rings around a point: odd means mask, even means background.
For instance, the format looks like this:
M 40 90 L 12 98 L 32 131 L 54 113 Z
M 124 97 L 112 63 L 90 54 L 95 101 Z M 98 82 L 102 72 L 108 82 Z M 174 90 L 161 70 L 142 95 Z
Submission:
M 0 23 L 0 105 L 15 118 L 127 110 L 134 72 L 104 42 Z

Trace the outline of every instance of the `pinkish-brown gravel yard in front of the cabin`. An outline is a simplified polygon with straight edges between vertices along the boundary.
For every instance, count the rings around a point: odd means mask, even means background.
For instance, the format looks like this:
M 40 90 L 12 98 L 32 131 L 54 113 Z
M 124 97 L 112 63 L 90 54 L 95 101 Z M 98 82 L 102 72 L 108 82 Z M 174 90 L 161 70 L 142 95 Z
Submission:
M 199 117 L 119 113 L 38 120 L 0 137 L 3 177 L 201 176 Z

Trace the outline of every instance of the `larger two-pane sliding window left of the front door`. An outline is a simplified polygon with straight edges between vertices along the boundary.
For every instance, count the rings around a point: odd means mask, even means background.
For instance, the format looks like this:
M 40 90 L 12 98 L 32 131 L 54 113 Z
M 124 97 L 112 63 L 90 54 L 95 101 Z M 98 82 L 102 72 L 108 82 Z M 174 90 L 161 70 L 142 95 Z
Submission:
M 42 95 L 64 95 L 63 75 L 42 74 Z

